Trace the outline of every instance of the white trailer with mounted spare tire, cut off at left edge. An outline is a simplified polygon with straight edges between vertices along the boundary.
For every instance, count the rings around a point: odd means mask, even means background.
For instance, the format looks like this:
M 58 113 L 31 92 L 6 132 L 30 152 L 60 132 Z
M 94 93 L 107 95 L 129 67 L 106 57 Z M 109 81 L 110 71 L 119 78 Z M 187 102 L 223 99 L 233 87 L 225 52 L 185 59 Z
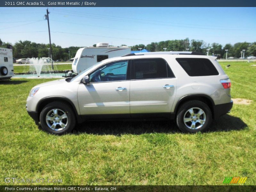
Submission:
M 0 47 L 0 80 L 14 76 L 12 49 Z

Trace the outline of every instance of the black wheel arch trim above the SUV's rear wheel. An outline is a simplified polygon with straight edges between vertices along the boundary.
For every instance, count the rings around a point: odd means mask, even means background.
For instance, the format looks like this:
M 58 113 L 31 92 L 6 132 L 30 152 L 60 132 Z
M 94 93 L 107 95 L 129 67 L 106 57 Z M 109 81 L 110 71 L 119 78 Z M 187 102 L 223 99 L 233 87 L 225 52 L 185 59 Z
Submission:
M 214 101 L 212 100 L 212 98 L 208 95 L 205 94 L 190 94 L 190 95 L 186 95 L 182 98 L 180 98 L 180 100 L 177 102 L 175 108 L 174 108 L 174 113 L 177 113 L 179 107 L 185 103 L 186 101 L 189 100 L 199 100 L 204 102 L 205 104 L 207 104 L 209 106 L 209 108 L 211 109 L 212 112 L 212 118 L 214 118 Z

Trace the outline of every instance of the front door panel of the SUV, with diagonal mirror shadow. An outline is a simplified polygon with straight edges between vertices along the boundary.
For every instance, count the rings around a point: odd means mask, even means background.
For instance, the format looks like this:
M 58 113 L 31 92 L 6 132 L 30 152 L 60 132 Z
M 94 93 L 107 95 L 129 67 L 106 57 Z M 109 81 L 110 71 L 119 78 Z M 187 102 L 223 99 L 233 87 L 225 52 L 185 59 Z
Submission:
M 130 81 L 80 84 L 77 94 L 81 115 L 130 113 Z

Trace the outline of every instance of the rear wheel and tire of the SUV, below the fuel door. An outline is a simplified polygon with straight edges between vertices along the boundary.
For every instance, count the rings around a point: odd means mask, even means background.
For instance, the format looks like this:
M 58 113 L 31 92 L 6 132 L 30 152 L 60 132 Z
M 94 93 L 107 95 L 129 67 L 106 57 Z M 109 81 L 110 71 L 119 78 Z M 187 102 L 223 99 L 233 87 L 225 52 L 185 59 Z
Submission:
M 199 100 L 190 100 L 182 104 L 176 116 L 177 126 L 182 132 L 196 133 L 203 131 L 211 122 L 211 109 Z

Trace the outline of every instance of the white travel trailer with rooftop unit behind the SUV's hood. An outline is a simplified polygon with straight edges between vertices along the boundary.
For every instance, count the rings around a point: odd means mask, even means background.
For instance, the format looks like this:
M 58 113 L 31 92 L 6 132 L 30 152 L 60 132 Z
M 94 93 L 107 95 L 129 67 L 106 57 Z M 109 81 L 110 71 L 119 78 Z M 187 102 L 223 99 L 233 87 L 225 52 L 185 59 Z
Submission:
M 97 43 L 96 47 L 80 48 L 74 57 L 72 70 L 75 73 L 81 73 L 102 60 L 129 53 L 131 53 L 130 47 L 109 47 L 108 43 Z

